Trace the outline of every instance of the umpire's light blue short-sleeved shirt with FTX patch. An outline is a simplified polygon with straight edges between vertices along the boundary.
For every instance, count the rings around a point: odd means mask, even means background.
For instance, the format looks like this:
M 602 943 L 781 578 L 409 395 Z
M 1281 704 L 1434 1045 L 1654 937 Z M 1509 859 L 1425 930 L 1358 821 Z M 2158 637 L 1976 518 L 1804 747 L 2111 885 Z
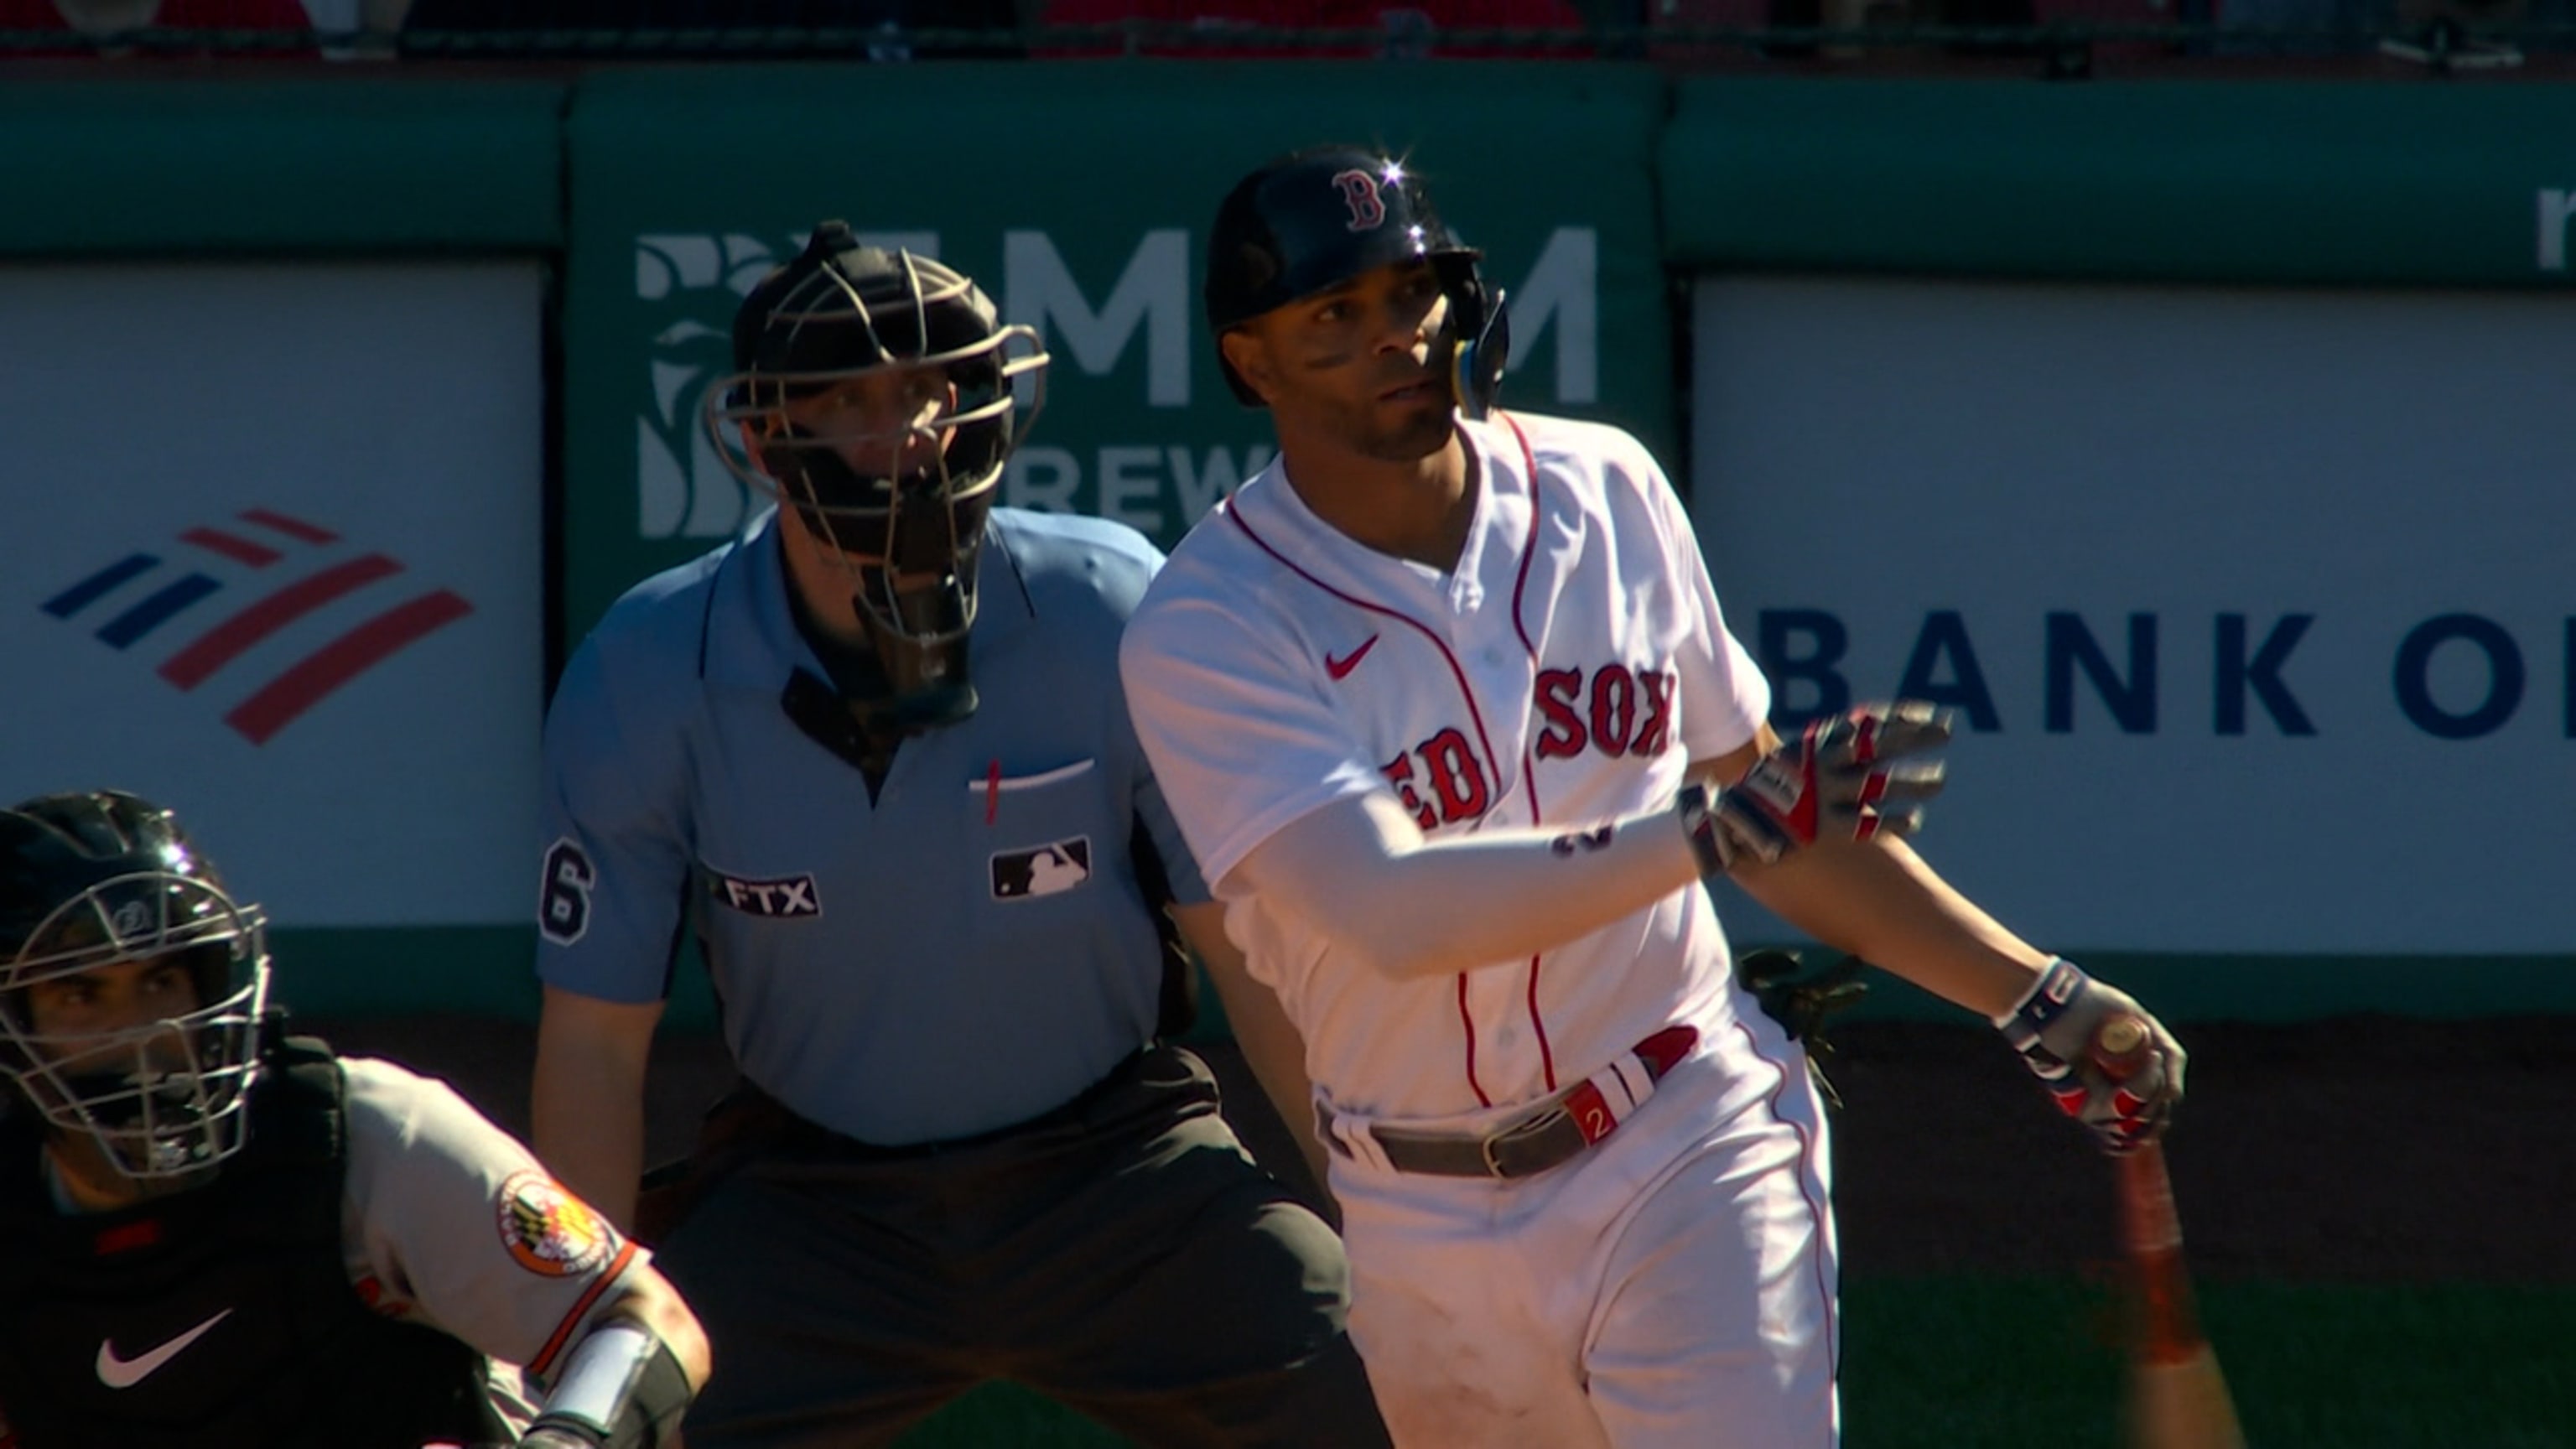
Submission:
M 546 714 L 538 977 L 662 1000 L 688 902 L 734 1060 L 796 1114 L 904 1145 L 1069 1101 L 1154 1034 L 1139 825 L 1172 895 L 1208 900 L 1118 683 L 1159 565 L 1121 523 L 994 508 L 981 706 L 904 740 L 873 804 L 781 704 L 824 668 L 775 511 L 639 583 Z

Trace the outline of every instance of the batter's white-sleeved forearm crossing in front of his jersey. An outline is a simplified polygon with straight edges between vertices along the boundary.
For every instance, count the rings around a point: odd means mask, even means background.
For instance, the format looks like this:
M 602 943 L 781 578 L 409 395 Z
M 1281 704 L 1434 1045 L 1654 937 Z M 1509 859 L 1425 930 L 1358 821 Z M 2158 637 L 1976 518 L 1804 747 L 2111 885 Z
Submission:
M 1391 977 L 1525 962 L 1700 879 L 1674 815 L 1425 841 L 1378 797 L 1291 822 L 1236 871 L 1334 951 Z

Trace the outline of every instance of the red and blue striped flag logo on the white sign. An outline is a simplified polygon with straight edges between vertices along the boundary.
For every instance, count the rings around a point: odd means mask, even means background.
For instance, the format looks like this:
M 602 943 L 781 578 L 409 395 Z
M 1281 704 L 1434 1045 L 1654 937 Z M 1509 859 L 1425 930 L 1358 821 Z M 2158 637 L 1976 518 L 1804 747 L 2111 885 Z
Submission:
M 446 588 L 399 590 L 392 580 L 402 575 L 402 562 L 374 552 L 340 557 L 337 534 L 268 508 L 188 529 L 178 544 L 167 554 L 131 552 L 46 598 L 41 608 L 93 627 L 98 642 L 118 652 L 144 639 L 178 639 L 178 650 L 155 673 L 183 694 L 299 619 L 350 616 L 353 624 L 340 634 L 258 681 L 224 714 L 224 724 L 252 745 L 265 745 L 340 686 L 474 611 Z M 368 608 L 397 590 L 399 601 Z M 219 614 L 234 598 L 247 601 Z

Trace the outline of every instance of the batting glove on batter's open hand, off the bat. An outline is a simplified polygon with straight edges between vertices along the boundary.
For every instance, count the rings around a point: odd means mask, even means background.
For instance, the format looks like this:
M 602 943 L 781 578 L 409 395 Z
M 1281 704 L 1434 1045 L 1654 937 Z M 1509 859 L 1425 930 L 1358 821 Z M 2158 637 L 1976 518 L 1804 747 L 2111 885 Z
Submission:
M 1816 719 L 1754 761 L 1736 784 L 1680 797 L 1682 825 L 1703 874 L 1772 864 L 1816 841 L 1911 835 L 1922 802 L 1940 794 L 1940 761 L 1911 761 L 1950 743 L 1950 714 L 1919 699 L 1862 704 Z

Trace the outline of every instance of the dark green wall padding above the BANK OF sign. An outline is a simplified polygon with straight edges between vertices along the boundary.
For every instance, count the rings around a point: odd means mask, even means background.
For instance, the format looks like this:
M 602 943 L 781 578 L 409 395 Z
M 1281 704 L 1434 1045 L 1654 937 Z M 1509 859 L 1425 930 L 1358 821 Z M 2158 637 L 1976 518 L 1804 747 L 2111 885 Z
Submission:
M 1674 85 L 1677 273 L 2568 286 L 2576 88 Z

